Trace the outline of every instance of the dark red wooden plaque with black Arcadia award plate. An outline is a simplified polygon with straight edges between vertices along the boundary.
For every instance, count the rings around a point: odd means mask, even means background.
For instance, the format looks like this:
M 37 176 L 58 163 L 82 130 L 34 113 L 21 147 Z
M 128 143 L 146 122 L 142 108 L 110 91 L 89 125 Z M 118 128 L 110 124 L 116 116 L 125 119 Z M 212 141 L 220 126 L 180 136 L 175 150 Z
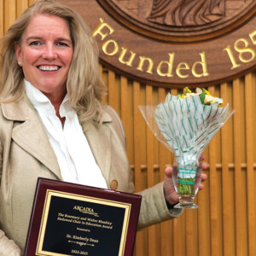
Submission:
M 26 256 L 131 256 L 141 195 L 38 178 Z

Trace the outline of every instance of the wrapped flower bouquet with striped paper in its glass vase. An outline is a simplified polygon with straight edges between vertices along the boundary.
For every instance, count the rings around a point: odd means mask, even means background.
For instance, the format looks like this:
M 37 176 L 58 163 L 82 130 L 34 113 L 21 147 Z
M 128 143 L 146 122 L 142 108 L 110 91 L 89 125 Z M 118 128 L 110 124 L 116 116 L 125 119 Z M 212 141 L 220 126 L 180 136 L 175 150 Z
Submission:
M 234 113 L 221 107 L 223 100 L 205 89 L 195 93 L 184 88 L 183 94 L 166 96 L 158 106 L 139 106 L 149 128 L 175 156 L 172 178 L 179 197 L 178 208 L 197 208 L 194 203 L 201 183 L 201 153 L 212 137 Z

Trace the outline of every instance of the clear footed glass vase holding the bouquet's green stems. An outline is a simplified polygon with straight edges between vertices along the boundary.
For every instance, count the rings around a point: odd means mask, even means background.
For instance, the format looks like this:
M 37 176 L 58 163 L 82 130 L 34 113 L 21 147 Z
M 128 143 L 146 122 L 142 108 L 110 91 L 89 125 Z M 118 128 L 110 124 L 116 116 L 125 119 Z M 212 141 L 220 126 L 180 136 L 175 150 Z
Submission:
M 195 195 L 201 183 L 201 164 L 191 166 L 172 166 L 172 179 L 179 203 L 175 208 L 198 208 L 194 203 Z

